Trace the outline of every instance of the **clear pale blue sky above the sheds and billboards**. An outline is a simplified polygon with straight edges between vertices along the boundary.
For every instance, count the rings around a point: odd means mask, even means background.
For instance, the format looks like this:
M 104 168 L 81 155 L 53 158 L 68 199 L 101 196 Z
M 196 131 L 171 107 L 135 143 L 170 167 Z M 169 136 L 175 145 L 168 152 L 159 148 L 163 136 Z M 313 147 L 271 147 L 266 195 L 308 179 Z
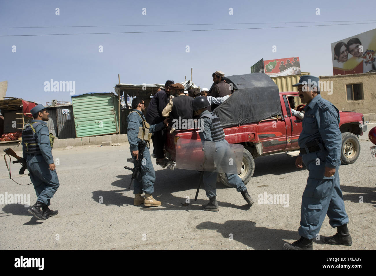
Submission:
M 190 78 L 210 87 L 211 74 L 250 73 L 259 59 L 300 57 L 301 70 L 332 75 L 331 43 L 376 28 L 376 24 L 296 27 L 319 23 L 373 20 L 371 1 L 5 1 L 0 0 L 0 27 L 224 24 L 196 26 L 127 26 L 0 29 L 0 35 L 203 30 L 295 26 L 279 29 L 205 32 L 120 33 L 0 37 L 0 81 L 8 80 L 6 96 L 38 103 L 70 101 L 69 92 L 46 92 L 44 82 L 75 81 L 76 95 L 114 91 L 121 83 L 164 83 Z M 371 5 L 372 6 L 372 5 Z M 55 14 L 59 8 L 60 15 Z M 146 8 L 146 15 L 142 9 Z M 229 8 L 233 15 L 229 15 Z M 316 15 L 320 8 L 320 15 Z M 344 24 L 323 23 L 323 24 Z M 15 53 L 12 46 L 16 46 Z M 99 46 L 103 53 L 99 53 Z M 190 52 L 186 52 L 189 45 Z M 272 52 L 273 45 L 277 52 Z

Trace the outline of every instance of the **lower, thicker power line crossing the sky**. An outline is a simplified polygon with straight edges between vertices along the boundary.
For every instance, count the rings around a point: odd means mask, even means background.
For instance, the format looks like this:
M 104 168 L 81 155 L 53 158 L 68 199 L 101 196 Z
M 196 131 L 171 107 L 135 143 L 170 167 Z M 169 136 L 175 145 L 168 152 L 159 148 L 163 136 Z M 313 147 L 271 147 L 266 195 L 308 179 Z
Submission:
M 1 36 L 50 36 L 50 35 L 106 35 L 120 33 L 169 33 L 169 32 L 205 32 L 205 31 L 225 31 L 225 30 L 256 30 L 256 29 L 279 29 L 279 28 L 299 28 L 299 27 L 319 27 L 319 26 L 341 26 L 341 25 L 358 25 L 374 24 L 369 23 L 347 23 L 347 24 L 326 24 L 326 25 L 306 25 L 306 26 L 282 26 L 282 27 L 258 27 L 258 28 L 237 28 L 237 29 L 210 29 L 210 30 L 174 30 L 174 31 L 144 31 L 144 32 L 108 32 L 108 33 L 54 33 L 44 35 L 0 35 Z

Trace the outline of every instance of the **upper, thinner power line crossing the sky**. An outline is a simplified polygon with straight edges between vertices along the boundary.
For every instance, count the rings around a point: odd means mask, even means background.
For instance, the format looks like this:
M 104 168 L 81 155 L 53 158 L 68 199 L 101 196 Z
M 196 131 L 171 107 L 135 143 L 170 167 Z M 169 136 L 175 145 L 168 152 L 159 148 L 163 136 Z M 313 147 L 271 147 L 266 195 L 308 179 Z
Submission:
M 351 22 L 369 22 L 374 20 L 351 20 Z M 0 29 L 33 29 L 33 28 L 81 28 L 81 27 L 142 27 L 142 26 L 200 26 L 200 25 L 247 25 L 247 24 L 290 24 L 290 23 L 329 23 L 347 21 L 303 21 L 303 22 L 264 22 L 264 23 L 210 23 L 210 24 L 150 24 L 150 25 L 96 25 L 96 26 L 47 26 L 47 27 L 0 27 Z

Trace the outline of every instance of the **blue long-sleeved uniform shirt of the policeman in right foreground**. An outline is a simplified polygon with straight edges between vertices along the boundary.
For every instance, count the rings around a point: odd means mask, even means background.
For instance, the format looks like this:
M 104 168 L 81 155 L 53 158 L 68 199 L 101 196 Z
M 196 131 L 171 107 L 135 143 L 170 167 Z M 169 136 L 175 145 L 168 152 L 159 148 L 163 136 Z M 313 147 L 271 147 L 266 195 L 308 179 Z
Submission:
M 335 168 L 341 164 L 342 134 L 339 128 L 340 113 L 329 101 L 318 94 L 304 108 L 303 129 L 299 136 L 299 147 L 315 139 L 322 141 L 327 156 L 325 166 Z M 300 153 L 302 155 L 302 153 Z

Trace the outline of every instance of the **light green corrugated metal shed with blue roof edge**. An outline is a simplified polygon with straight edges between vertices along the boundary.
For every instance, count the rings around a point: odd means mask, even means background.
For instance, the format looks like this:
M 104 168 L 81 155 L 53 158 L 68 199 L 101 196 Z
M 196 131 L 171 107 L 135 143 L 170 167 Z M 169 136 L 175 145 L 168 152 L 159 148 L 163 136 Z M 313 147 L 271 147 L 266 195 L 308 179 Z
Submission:
M 117 134 L 118 101 L 117 96 L 111 92 L 72 96 L 76 136 Z

